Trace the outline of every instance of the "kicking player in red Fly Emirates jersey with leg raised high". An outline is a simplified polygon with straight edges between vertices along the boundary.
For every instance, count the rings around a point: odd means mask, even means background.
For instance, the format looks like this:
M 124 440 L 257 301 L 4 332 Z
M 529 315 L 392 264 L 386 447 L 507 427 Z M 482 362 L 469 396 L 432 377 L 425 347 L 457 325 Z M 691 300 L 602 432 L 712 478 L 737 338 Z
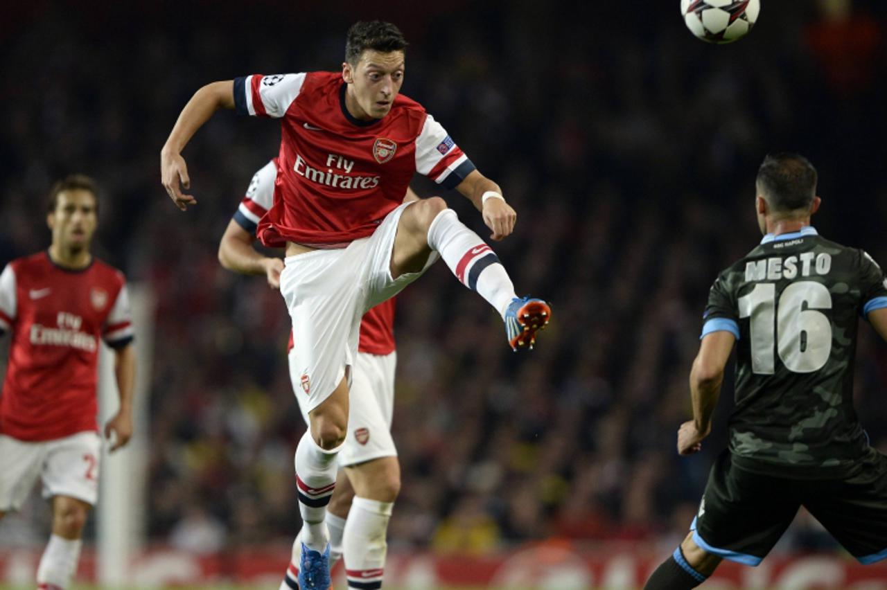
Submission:
M 190 180 L 181 151 L 216 110 L 281 119 L 274 205 L 258 236 L 287 248 L 280 291 L 293 321 L 294 354 L 310 396 L 310 430 L 295 454 L 302 513 L 302 590 L 329 586 L 326 504 L 349 414 L 350 367 L 360 318 L 416 280 L 432 251 L 461 283 L 498 311 L 506 338 L 530 348 L 551 309 L 518 298 L 489 245 L 442 198 L 403 203 L 416 172 L 459 190 L 482 213 L 495 241 L 514 230 L 516 213 L 425 109 L 399 94 L 404 36 L 390 23 L 349 29 L 341 73 L 250 75 L 213 82 L 184 106 L 161 150 L 163 186 L 184 210 Z M 380 547 L 383 551 L 384 547 Z M 347 569 L 352 565 L 345 564 Z M 357 568 L 350 587 L 378 588 Z

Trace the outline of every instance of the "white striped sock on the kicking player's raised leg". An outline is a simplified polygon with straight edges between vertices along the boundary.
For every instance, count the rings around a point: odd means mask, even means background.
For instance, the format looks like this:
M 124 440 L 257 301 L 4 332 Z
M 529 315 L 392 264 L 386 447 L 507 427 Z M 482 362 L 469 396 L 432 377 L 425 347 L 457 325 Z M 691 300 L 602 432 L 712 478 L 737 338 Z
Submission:
M 505 317 L 508 304 L 516 297 L 514 284 L 496 253 L 459 221 L 455 211 L 444 209 L 437 213 L 428 227 L 428 245 L 440 252 L 460 283 L 477 291 L 499 315 Z

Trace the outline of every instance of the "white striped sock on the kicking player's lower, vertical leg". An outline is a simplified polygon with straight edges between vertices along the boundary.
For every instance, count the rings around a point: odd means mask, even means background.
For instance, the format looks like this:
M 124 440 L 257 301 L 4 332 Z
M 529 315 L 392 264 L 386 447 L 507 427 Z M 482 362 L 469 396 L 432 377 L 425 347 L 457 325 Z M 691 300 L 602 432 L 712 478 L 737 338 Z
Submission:
M 341 445 L 329 451 L 318 446 L 306 431 L 295 449 L 295 483 L 298 486 L 299 512 L 302 514 L 302 543 L 323 553 L 329 542 L 326 530 L 326 505 L 335 489 L 338 472 L 335 457 Z

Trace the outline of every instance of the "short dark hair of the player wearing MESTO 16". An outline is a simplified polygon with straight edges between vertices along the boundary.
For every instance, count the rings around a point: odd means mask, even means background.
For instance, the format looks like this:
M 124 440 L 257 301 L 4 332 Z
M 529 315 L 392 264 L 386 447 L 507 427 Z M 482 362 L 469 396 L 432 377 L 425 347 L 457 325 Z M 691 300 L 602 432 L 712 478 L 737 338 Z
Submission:
M 816 197 L 816 168 L 804 156 L 779 152 L 767 154 L 757 169 L 757 190 L 776 213 L 809 207 Z

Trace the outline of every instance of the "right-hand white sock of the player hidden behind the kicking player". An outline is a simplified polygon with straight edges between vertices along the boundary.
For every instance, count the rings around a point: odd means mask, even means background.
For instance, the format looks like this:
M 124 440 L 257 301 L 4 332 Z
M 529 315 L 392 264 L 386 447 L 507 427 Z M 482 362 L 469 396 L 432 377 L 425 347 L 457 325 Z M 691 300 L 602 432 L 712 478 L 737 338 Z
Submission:
M 382 587 L 385 554 L 388 552 L 386 535 L 393 507 L 394 502 L 359 497 L 351 502 L 342 538 L 349 588 L 374 590 Z

